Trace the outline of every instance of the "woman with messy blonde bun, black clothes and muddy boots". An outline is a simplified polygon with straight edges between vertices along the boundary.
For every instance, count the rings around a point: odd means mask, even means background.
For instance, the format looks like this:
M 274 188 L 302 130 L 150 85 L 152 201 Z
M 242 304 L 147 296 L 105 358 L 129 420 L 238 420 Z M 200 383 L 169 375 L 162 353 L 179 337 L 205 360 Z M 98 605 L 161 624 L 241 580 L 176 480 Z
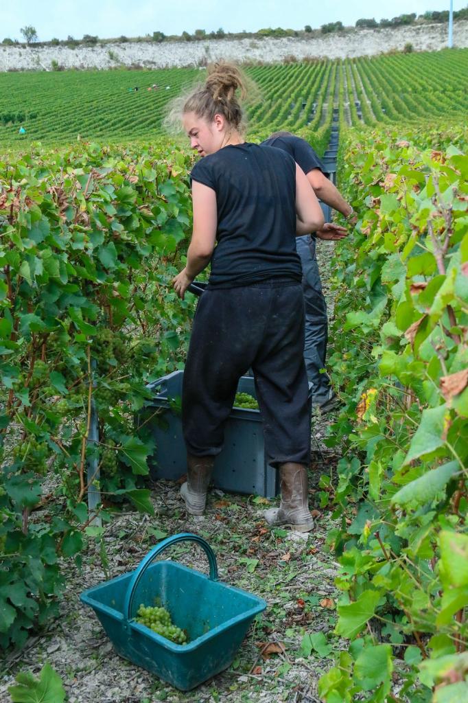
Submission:
M 179 297 L 212 268 L 183 379 L 188 473 L 181 495 L 188 512 L 202 515 L 238 381 L 252 368 L 266 455 L 281 482 L 280 508 L 267 510 L 266 520 L 308 531 L 311 433 L 295 238 L 320 229 L 323 214 L 290 155 L 244 140 L 238 89 L 245 91 L 238 69 L 216 65 L 182 109 L 190 145 L 204 158 L 191 174 L 193 236 L 174 278 Z

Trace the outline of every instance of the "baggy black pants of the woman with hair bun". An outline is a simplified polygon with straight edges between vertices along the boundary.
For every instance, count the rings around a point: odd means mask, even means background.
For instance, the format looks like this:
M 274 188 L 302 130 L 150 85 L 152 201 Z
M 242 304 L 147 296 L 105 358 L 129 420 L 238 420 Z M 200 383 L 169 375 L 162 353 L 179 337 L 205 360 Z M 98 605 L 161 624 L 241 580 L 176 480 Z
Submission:
M 304 296 L 292 280 L 207 289 L 198 303 L 183 378 L 187 451 L 219 454 L 240 376 L 254 372 L 268 463 L 308 465 Z

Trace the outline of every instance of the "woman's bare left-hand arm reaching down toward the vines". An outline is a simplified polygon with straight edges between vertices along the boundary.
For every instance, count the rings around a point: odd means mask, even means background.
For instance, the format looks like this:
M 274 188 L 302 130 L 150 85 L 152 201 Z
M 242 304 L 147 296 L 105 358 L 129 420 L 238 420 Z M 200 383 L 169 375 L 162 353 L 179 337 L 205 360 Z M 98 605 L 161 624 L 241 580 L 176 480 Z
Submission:
M 193 181 L 193 233 L 187 252 L 186 268 L 172 280 L 178 297 L 183 298 L 195 276 L 205 269 L 213 254 L 218 226 L 216 193 L 213 188 Z

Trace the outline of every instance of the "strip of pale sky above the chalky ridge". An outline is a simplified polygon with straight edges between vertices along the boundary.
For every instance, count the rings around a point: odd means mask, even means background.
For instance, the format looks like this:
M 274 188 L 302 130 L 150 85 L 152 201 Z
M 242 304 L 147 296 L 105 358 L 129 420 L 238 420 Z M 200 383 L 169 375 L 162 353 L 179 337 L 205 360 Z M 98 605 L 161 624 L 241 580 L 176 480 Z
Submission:
M 83 34 L 106 39 L 121 34 L 141 37 L 155 30 L 164 34 L 210 32 L 219 27 L 226 32 L 255 32 L 262 27 L 300 30 L 304 25 L 315 28 L 337 20 L 354 25 L 359 18 L 420 15 L 449 6 L 449 0 L 0 0 L 0 41 L 22 39 L 20 28 L 25 25 L 35 27 L 42 41 L 67 39 L 69 34 L 75 39 Z M 453 1 L 454 10 L 465 6 L 467 0 Z

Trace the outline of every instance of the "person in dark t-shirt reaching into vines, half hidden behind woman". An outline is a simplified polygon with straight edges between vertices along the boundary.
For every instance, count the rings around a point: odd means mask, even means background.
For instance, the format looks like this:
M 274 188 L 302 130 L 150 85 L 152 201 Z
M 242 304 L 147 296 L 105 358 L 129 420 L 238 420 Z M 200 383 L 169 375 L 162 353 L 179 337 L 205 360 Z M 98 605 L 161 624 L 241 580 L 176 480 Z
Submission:
M 311 184 L 314 193 L 326 205 L 330 205 L 352 224 L 356 223 L 353 208 L 344 200 L 341 193 L 325 175 L 325 167 L 311 145 L 287 131 L 275 132 L 262 142 L 262 146 L 273 146 L 290 154 L 301 167 Z M 339 241 L 347 236 L 346 228 L 327 222 L 320 230 L 297 237 L 297 253 L 302 264 L 302 289 L 306 307 L 306 342 L 304 359 L 308 380 L 313 385 L 313 406 L 327 413 L 339 404 L 334 393 L 330 376 L 323 371 L 327 354 L 328 318 L 327 304 L 323 296 L 320 273 L 316 257 L 316 238 Z

